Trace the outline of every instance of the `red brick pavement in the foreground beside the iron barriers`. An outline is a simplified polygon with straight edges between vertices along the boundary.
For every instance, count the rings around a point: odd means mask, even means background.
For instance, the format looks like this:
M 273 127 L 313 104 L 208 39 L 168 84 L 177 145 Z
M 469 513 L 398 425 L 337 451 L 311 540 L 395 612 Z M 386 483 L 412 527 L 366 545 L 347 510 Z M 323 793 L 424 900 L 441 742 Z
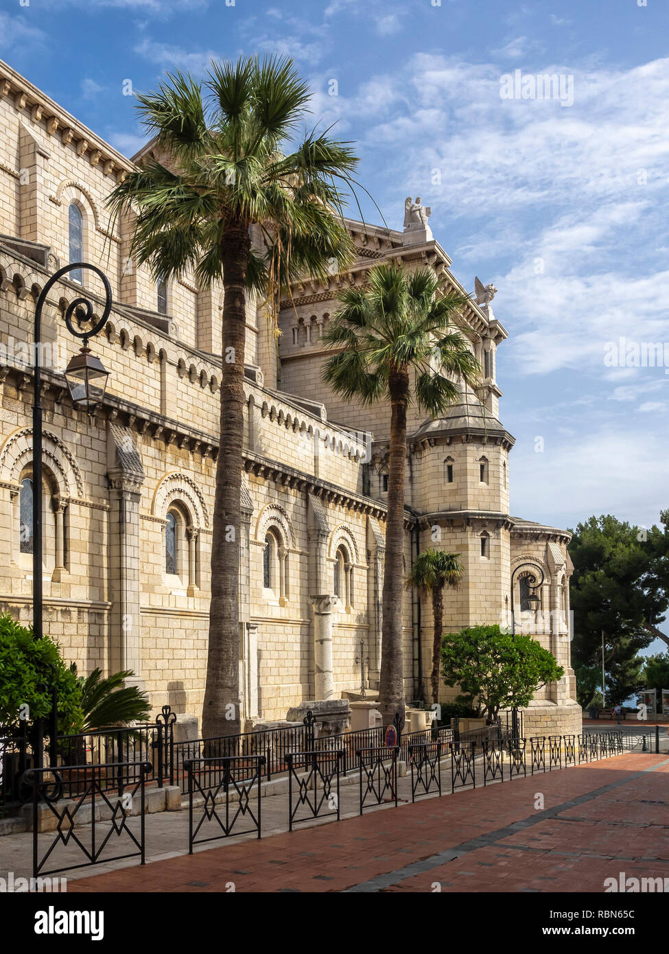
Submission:
M 617 782 L 536 820 L 537 794 L 544 810 L 554 809 Z M 337 892 L 384 875 L 373 889 L 601 892 L 619 871 L 669 877 L 668 783 L 666 756 L 618 756 L 267 839 L 231 840 L 190 857 L 70 881 L 68 892 L 224 892 L 230 882 L 237 892 Z M 523 819 L 525 827 L 500 832 Z M 431 860 L 420 873 L 400 870 L 486 836 L 491 843 L 452 861 Z

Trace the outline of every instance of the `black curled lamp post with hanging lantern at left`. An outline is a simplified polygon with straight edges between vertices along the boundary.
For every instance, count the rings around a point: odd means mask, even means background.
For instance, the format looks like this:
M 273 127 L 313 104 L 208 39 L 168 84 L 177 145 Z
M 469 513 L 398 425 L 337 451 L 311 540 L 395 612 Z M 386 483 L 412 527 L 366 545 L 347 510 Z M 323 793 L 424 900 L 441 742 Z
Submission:
M 41 337 L 42 337 L 42 309 L 47 296 L 56 281 L 59 281 L 68 272 L 76 269 L 88 268 L 98 276 L 105 289 L 105 305 L 102 317 L 87 331 L 77 331 L 73 326 L 73 318 L 78 322 L 90 322 L 93 319 L 93 302 L 84 296 L 74 299 L 65 312 L 65 324 L 74 338 L 82 340 L 81 351 L 75 355 L 65 369 L 65 380 L 75 407 L 83 407 L 91 414 L 97 404 L 104 397 L 109 371 L 106 371 L 99 358 L 91 353 L 88 346 L 90 338 L 104 327 L 112 310 L 112 289 L 109 280 L 95 265 L 85 261 L 72 262 L 58 269 L 42 289 L 35 305 L 34 318 L 34 363 L 33 363 L 33 399 L 32 399 L 32 632 L 35 639 L 43 635 L 42 611 L 42 367 L 41 367 Z M 52 705 L 52 754 L 55 748 L 57 701 Z M 39 735 L 41 732 L 38 730 Z M 34 749 L 35 764 L 41 765 L 42 742 L 38 738 Z

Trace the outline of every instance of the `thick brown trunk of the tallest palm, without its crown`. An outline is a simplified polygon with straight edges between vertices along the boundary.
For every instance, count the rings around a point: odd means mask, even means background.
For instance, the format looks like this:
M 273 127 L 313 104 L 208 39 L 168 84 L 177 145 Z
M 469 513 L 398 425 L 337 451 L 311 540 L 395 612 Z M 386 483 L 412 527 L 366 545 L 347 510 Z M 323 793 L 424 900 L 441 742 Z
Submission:
M 245 285 L 248 230 L 229 229 L 223 260 L 220 446 L 212 525 L 211 604 L 202 737 L 240 729 L 240 529 L 243 446 Z

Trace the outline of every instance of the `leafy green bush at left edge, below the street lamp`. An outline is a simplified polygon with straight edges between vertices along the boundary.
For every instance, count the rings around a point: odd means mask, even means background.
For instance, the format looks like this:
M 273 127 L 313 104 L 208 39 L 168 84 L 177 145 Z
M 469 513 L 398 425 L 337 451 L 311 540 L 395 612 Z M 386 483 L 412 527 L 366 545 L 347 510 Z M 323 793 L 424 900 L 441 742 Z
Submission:
M 0 615 L 0 727 L 17 728 L 22 706 L 25 717 L 48 717 L 52 689 L 58 695 L 58 732 L 78 732 L 83 722 L 81 691 L 76 676 L 50 636 L 35 639 L 32 628 L 10 615 Z M 48 730 L 48 723 L 45 724 Z

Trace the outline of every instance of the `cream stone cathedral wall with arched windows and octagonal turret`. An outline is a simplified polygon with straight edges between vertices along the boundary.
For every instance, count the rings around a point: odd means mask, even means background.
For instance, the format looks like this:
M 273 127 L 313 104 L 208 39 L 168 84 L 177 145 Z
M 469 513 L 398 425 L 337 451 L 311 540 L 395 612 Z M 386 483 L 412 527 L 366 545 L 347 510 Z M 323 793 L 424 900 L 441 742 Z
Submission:
M 112 285 L 112 313 L 91 342 L 111 374 L 93 419 L 73 408 L 62 370 L 79 342 L 64 311 L 81 280 L 100 307 L 102 300 L 96 279 L 71 273 L 54 286 L 44 315 L 43 347 L 52 355 L 42 395 L 45 632 L 79 673 L 133 669 L 156 709 L 170 703 L 199 716 L 222 292 L 202 291 L 188 278 L 157 284 L 135 267 L 132 222 L 110 221 L 105 205 L 132 168 L 0 62 L 0 611 L 31 621 L 34 305 L 56 268 L 83 259 Z M 364 283 L 381 261 L 428 264 L 444 288 L 462 290 L 428 215 L 417 200 L 408 201 L 397 231 L 347 221 L 355 264 L 324 285 L 292 289 L 278 343 L 261 303 L 249 304 L 240 588 L 247 728 L 317 697 L 314 639 L 324 622 L 333 636 L 334 696 L 359 692 L 361 663 L 369 694 L 378 685 L 389 410 L 328 393 L 321 339 L 340 289 Z M 534 699 L 526 734 L 577 732 L 570 537 L 509 512 L 513 438 L 500 422 L 495 375 L 507 331 L 492 313 L 491 291 L 471 300 L 461 322 L 484 368 L 481 390 L 463 393 L 439 420 L 409 412 L 405 562 L 408 569 L 430 546 L 462 554 L 464 583 L 445 600 L 449 632 L 508 624 L 512 574 L 520 619 L 528 580 L 540 568 L 540 612 L 530 622 L 566 674 Z M 323 594 L 329 598 L 315 598 Z M 431 619 L 429 604 L 410 592 L 404 633 L 411 700 L 428 686 Z

